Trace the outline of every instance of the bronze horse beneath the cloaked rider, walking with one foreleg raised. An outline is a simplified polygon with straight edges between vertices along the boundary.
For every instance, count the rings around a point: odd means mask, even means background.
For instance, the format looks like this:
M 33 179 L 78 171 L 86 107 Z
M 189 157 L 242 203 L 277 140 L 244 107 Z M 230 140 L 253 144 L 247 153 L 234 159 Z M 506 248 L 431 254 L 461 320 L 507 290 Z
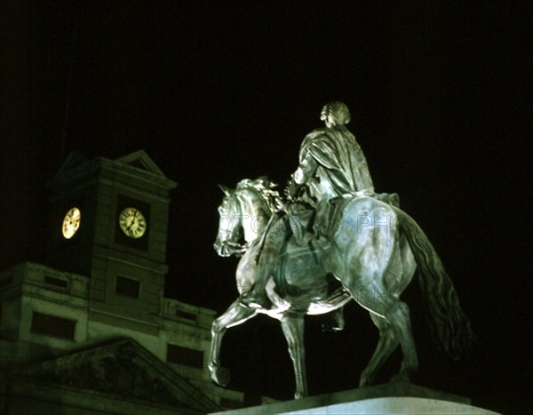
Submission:
M 236 270 L 237 289 L 242 294 L 255 281 L 262 238 L 285 237 L 285 222 L 274 214 L 281 204 L 267 179 L 242 180 L 235 190 L 221 188 L 225 196 L 219 206 L 214 247 L 221 256 L 243 255 Z M 209 369 L 220 386 L 229 382 L 229 371 L 219 359 L 225 331 L 262 313 L 280 320 L 294 365 L 295 398 L 306 396 L 304 316 L 328 313 L 351 299 L 370 311 L 379 330 L 378 347 L 362 371 L 360 387 L 374 381 L 398 345 L 402 364 L 393 380 L 409 381 L 418 369 L 418 357 L 409 307 L 400 295 L 417 267 L 432 332 L 442 351 L 458 357 L 468 349 L 473 340 L 469 320 L 459 307 L 441 260 L 417 223 L 402 210 L 368 196 L 347 197 L 340 201 L 339 209 L 328 249 L 302 246 L 294 236 L 286 243 L 276 259 L 274 269 L 278 271 L 266 287 L 272 307 L 245 307 L 236 299 L 213 322 Z M 335 290 L 328 285 L 330 274 L 340 282 Z

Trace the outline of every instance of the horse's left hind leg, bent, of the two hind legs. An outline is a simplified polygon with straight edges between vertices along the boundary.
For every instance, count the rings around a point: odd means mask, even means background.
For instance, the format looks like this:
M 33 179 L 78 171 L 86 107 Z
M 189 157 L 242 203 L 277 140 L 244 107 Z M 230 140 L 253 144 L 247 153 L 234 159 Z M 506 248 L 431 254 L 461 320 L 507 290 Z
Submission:
M 370 313 L 370 318 L 379 329 L 379 342 L 378 347 L 374 351 L 374 355 L 370 359 L 370 363 L 362 371 L 359 387 L 365 387 L 374 383 L 376 374 L 381 369 L 381 366 L 383 366 L 383 363 L 386 362 L 388 356 L 398 347 L 399 343 L 393 326 L 385 318 L 374 313 Z

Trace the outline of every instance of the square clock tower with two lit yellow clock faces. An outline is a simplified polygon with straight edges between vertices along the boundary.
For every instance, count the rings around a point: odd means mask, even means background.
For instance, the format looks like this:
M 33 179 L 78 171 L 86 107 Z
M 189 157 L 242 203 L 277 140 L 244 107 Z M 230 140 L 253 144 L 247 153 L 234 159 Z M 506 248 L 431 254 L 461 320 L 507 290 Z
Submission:
M 139 150 L 116 160 L 72 153 L 48 185 L 47 262 L 90 277 L 91 321 L 128 315 L 154 323 L 176 182 Z

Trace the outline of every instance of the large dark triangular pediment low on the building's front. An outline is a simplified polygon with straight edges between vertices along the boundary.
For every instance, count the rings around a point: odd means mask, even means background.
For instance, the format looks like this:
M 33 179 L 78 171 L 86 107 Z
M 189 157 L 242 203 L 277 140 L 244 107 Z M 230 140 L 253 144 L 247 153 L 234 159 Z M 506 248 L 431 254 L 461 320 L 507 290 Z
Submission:
M 88 346 L 20 368 L 17 375 L 119 400 L 172 407 L 183 413 L 220 410 L 200 389 L 132 339 Z

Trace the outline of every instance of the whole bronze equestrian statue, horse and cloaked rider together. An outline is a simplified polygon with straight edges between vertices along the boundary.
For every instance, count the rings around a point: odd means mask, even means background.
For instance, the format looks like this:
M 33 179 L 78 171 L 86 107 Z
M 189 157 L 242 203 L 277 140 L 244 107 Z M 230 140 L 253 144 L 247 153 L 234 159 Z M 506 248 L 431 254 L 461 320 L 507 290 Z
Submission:
M 399 208 L 396 194 L 377 194 L 362 149 L 346 128 L 346 105 L 322 108 L 325 127 L 307 134 L 298 169 L 282 197 L 267 177 L 224 186 L 219 206 L 220 256 L 242 257 L 236 270 L 239 297 L 211 328 L 211 378 L 227 386 L 220 363 L 227 328 L 258 314 L 278 319 L 296 378 L 295 398 L 307 395 L 305 315 L 330 313 L 324 330 L 344 328 L 342 307 L 352 299 L 370 312 L 378 346 L 359 386 L 371 385 L 389 355 L 402 348 L 393 381 L 410 381 L 418 357 L 402 291 L 415 271 L 430 328 L 443 353 L 457 359 L 474 339 L 457 293 L 427 236 Z

